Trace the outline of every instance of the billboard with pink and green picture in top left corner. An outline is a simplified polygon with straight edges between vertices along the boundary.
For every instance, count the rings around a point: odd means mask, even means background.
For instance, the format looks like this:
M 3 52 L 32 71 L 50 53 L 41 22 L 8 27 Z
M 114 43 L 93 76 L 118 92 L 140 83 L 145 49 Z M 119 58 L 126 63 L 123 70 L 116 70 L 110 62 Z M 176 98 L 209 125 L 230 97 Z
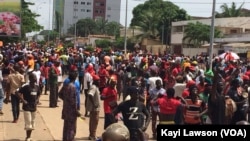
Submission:
M 21 0 L 0 0 L 0 36 L 21 35 Z

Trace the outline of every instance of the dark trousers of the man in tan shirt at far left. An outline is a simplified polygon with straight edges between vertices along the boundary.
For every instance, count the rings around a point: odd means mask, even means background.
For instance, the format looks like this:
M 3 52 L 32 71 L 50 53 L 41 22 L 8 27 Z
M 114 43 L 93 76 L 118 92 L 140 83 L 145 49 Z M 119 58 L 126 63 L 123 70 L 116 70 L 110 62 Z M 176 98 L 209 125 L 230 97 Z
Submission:
M 18 120 L 20 114 L 20 99 L 14 94 L 11 94 L 11 107 L 14 120 Z

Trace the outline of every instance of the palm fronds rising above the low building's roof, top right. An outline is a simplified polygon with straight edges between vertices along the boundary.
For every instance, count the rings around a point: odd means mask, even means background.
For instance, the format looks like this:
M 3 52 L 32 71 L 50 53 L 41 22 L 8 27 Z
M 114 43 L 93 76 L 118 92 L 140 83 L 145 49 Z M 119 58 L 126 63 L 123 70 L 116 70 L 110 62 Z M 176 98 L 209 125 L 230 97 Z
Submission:
M 237 8 L 235 2 L 232 2 L 231 7 L 229 7 L 226 3 L 224 3 L 220 8 L 222 10 L 221 13 L 216 13 L 216 18 L 222 18 L 222 17 L 240 17 L 243 16 L 243 13 L 241 12 L 242 7 L 244 3 L 240 5 L 240 7 Z

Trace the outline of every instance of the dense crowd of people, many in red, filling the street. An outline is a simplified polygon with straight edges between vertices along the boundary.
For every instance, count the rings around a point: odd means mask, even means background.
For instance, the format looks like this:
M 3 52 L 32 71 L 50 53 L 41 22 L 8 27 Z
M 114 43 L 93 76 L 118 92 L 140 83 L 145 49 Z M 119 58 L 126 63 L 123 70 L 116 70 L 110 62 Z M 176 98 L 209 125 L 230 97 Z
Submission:
M 11 44 L 2 47 L 0 59 L 0 114 L 3 103 L 10 102 L 13 123 L 17 123 L 21 102 L 26 140 L 34 130 L 35 111 L 43 94 L 49 94 L 50 108 L 58 107 L 59 99 L 63 101 L 63 141 L 74 140 L 79 116 L 89 117 L 89 140 L 97 139 L 101 100 L 104 129 L 122 119 L 130 141 L 148 138 L 145 131 L 150 123 L 154 139 L 158 124 L 248 123 L 247 60 L 214 56 L 210 68 L 208 56 L 203 55 L 153 55 L 146 51 L 124 55 L 119 51 L 44 50 Z M 64 75 L 68 76 L 65 80 Z M 81 94 L 85 101 L 80 100 Z M 81 102 L 84 109 L 80 109 Z

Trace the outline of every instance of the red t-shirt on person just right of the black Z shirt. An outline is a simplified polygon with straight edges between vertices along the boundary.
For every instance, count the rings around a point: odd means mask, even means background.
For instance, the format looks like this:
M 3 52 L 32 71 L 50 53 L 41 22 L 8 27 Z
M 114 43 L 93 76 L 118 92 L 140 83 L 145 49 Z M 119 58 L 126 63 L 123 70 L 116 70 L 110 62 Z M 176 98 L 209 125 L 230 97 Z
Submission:
M 181 105 L 179 100 L 167 97 L 159 98 L 157 103 L 159 104 L 161 114 L 175 114 L 177 107 Z

